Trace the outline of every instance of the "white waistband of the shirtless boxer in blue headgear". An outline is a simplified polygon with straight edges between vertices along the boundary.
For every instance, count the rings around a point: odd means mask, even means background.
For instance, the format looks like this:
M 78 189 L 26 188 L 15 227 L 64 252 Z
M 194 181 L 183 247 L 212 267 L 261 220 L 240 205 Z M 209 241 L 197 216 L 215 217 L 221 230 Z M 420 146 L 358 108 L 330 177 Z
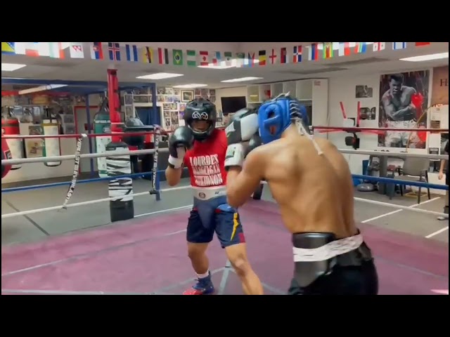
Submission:
M 345 237 L 330 242 L 314 249 L 293 248 L 294 262 L 325 261 L 335 256 L 354 251 L 363 244 L 363 236 L 356 234 L 353 237 Z

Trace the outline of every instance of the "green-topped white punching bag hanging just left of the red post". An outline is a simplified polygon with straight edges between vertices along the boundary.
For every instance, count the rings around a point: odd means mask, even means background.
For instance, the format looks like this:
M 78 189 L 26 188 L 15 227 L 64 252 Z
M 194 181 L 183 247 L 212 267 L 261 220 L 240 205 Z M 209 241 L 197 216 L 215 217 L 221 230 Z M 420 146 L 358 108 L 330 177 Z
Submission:
M 108 100 L 103 100 L 100 110 L 94 115 L 94 133 L 111 133 L 110 112 L 108 110 Z M 106 145 L 111 143 L 111 136 L 96 137 L 96 152 L 105 153 Z M 100 178 L 108 177 L 106 169 L 106 158 L 97 158 L 98 176 Z

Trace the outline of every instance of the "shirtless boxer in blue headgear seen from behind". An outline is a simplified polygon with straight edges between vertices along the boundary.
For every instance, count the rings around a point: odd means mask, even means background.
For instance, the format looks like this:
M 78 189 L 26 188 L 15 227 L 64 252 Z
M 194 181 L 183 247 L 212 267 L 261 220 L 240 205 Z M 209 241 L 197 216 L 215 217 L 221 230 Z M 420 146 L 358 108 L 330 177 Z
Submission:
M 267 181 L 293 234 L 295 270 L 288 293 L 375 295 L 378 275 L 354 221 L 349 166 L 335 145 L 313 140 L 302 110 L 297 100 L 280 95 L 257 114 L 233 117 L 226 128 L 228 202 L 242 206 L 259 181 Z M 264 145 L 244 163 L 246 142 L 258 129 Z

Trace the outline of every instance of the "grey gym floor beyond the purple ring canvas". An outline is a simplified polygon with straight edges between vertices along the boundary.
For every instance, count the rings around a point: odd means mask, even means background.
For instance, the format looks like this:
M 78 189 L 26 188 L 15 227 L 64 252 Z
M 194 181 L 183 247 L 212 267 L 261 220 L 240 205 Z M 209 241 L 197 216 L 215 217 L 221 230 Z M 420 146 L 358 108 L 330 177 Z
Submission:
M 42 182 L 41 182 L 42 183 Z M 47 181 L 44 183 L 48 183 Z M 184 180 L 182 185 L 188 185 Z M 146 192 L 150 187 L 148 180 L 134 180 L 134 192 Z M 4 187 L 5 188 L 5 187 Z M 167 188 L 162 183 L 161 188 Z M 51 187 L 41 190 L 27 190 L 23 192 L 11 192 L 1 196 L 1 213 L 27 211 L 41 209 L 50 206 L 62 205 L 67 194 L 68 187 Z M 154 196 L 146 195 L 134 199 L 134 210 L 137 217 L 158 216 L 159 213 L 192 204 L 192 196 L 189 189 L 164 192 L 162 200 L 156 201 Z M 444 199 L 438 195 L 432 195 L 428 200 L 423 197 L 422 204 L 416 206 L 416 199 L 411 197 L 394 197 L 389 200 L 385 195 L 376 192 L 356 192 L 356 197 L 383 201 L 402 206 L 413 206 L 419 209 L 441 212 Z M 108 197 L 108 183 L 98 182 L 77 185 L 70 203 L 89 201 Z M 269 189 L 264 189 L 263 200 L 273 201 Z M 81 215 L 81 217 L 80 217 Z M 441 242 L 449 242 L 448 220 L 439 221 L 435 216 L 401 211 L 390 207 L 355 202 L 355 217 L 360 223 L 427 237 Z M 80 206 L 67 210 L 37 213 L 30 216 L 6 218 L 1 221 L 1 244 L 15 242 L 34 242 L 51 235 L 64 234 L 77 230 L 85 230 L 100 227 L 110 223 L 109 203 Z M 445 228 L 447 230 L 445 230 Z M 441 232 L 439 232 L 441 231 Z

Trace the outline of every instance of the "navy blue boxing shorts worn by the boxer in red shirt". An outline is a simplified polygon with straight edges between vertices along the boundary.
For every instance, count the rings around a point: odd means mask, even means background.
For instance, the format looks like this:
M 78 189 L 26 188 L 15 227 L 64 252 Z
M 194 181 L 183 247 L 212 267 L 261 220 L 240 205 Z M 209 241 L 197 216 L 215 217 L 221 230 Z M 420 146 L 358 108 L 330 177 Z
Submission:
M 193 244 L 212 242 L 214 232 L 222 246 L 245 243 L 237 209 L 226 203 L 224 187 L 194 187 L 194 204 L 186 239 Z

